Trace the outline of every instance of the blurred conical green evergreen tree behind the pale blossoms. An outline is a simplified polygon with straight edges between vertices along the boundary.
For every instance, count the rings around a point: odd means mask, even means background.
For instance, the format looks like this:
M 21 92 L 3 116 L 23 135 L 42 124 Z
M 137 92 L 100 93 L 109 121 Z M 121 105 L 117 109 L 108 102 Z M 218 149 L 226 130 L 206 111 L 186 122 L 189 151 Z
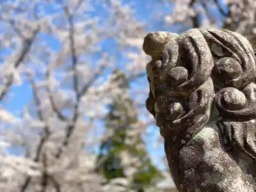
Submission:
M 118 83 L 122 92 L 115 95 L 105 117 L 106 132 L 109 135 L 100 145 L 98 171 L 108 182 L 123 178 L 128 181 L 125 188 L 143 192 L 145 188 L 155 186 L 162 175 L 145 150 L 141 134 L 136 131 L 138 115 L 133 100 L 127 94 L 129 81 L 120 70 L 113 72 L 112 80 Z

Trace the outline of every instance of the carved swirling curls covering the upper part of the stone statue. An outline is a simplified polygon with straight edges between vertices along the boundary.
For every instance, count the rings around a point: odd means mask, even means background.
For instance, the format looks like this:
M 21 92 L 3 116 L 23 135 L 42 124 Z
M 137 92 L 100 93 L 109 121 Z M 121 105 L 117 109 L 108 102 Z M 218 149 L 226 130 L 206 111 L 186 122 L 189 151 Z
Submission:
M 156 32 L 145 37 L 143 49 L 148 46 L 151 52 L 145 52 L 153 59 L 147 65 L 151 91 L 146 106 L 163 137 L 191 138 L 214 115 L 213 103 L 223 125 L 256 118 L 256 59 L 246 38 L 224 29 Z

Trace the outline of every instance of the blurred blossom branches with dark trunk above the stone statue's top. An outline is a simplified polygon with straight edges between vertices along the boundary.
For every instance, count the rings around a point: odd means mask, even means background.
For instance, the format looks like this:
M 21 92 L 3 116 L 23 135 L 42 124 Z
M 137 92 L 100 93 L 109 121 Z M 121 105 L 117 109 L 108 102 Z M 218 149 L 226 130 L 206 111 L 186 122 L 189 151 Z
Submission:
M 254 0 L 163 0 L 173 9 L 164 17 L 176 32 L 190 28 L 225 28 L 252 40 L 256 33 Z

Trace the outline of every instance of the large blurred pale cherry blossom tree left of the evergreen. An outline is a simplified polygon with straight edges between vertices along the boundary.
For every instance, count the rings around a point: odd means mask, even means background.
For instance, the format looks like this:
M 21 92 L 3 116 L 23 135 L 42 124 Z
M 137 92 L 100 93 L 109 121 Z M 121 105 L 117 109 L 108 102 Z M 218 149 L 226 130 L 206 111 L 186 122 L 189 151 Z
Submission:
M 111 72 L 131 82 L 145 74 L 144 24 L 115 0 L 5 1 L 0 15 L 1 190 L 109 191 L 94 171 L 95 148 L 106 105 L 121 91 Z M 31 93 L 19 97 L 31 101 L 9 111 L 13 89 L 26 84 Z M 139 120 L 136 132 L 147 125 Z

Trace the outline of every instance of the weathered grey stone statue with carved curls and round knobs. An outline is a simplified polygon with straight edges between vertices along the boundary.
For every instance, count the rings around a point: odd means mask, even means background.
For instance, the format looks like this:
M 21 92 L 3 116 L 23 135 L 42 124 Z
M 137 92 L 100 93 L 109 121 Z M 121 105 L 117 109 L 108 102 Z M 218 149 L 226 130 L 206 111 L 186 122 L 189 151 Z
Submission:
M 255 55 L 225 29 L 156 32 L 144 39 L 147 110 L 164 137 L 179 191 L 256 191 Z

